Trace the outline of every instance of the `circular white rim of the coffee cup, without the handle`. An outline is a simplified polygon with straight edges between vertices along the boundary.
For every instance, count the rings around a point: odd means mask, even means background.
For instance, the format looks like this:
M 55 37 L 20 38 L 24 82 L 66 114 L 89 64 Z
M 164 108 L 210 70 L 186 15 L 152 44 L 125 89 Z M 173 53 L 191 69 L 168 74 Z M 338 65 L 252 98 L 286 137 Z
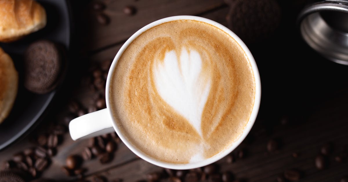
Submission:
M 175 163 L 169 163 L 169 162 L 164 162 L 160 161 L 158 159 L 152 158 L 142 152 L 140 149 L 137 149 L 132 143 L 130 143 L 126 137 L 122 134 L 122 132 L 119 130 L 116 122 L 114 121 L 112 112 L 111 112 L 111 107 L 109 103 L 109 89 L 110 89 L 110 83 L 113 75 L 113 71 L 117 65 L 117 62 L 120 58 L 120 56 L 123 54 L 123 52 L 126 50 L 126 48 L 129 46 L 132 41 L 141 35 L 143 32 L 153 28 L 154 26 L 157 26 L 162 23 L 166 22 L 171 22 L 171 21 L 180 21 L 180 20 L 193 20 L 193 21 L 200 21 L 200 22 L 205 22 L 210 25 L 213 25 L 222 31 L 226 32 L 228 35 L 230 35 L 232 38 L 236 40 L 236 42 L 239 44 L 240 47 L 242 47 L 243 51 L 247 55 L 247 58 L 249 59 L 249 62 L 251 64 L 253 73 L 254 73 L 254 79 L 255 79 L 255 99 L 254 99 L 254 106 L 251 112 L 251 115 L 249 117 L 249 120 L 246 124 L 246 126 L 243 129 L 242 134 L 239 136 L 238 139 L 234 143 L 232 143 L 227 149 L 224 149 L 223 151 L 220 151 L 219 153 L 215 154 L 214 156 L 207 158 L 205 160 L 199 161 L 199 162 L 193 162 L 193 163 L 187 163 L 187 164 L 175 164 Z M 258 115 L 259 107 L 260 107 L 260 101 L 261 101 L 261 82 L 260 82 L 260 75 L 259 75 L 259 70 L 258 67 L 256 66 L 256 62 L 254 60 L 254 57 L 252 56 L 250 50 L 247 48 L 247 46 L 244 44 L 244 42 L 230 29 L 226 28 L 225 26 L 221 25 L 220 23 L 217 23 L 213 20 L 209 20 L 207 18 L 203 17 L 198 17 L 198 16 L 189 16 L 189 15 L 181 15 L 181 16 L 171 16 L 171 17 L 166 17 L 162 18 L 160 20 L 157 20 L 155 22 L 152 22 L 148 25 L 145 25 L 143 28 L 140 30 L 136 31 L 120 48 L 120 50 L 117 52 L 115 58 L 112 61 L 112 64 L 109 69 L 108 77 L 106 79 L 106 89 L 105 89 L 105 98 L 106 98 L 106 108 L 109 111 L 109 116 L 111 117 L 112 121 L 112 126 L 114 130 L 116 131 L 117 135 L 120 137 L 122 142 L 137 156 L 140 158 L 144 159 L 147 162 L 150 162 L 151 164 L 164 167 L 164 168 L 169 168 L 169 169 L 192 169 L 192 168 L 198 168 L 202 166 L 206 166 L 209 164 L 212 164 L 213 162 L 216 162 L 217 160 L 220 160 L 221 158 L 227 156 L 230 152 L 236 149 L 236 147 L 245 139 L 247 134 L 250 132 L 252 126 L 254 125 L 254 122 L 256 120 L 256 116 Z

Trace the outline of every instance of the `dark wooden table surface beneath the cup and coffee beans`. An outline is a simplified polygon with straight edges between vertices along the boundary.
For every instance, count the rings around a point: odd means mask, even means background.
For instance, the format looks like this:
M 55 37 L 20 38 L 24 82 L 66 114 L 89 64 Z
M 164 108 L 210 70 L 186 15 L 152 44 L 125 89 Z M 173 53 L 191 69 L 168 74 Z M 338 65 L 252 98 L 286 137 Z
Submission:
M 81 75 L 95 62 L 113 59 L 122 44 L 144 25 L 160 18 L 174 15 L 196 15 L 227 25 L 229 6 L 223 0 L 104 0 L 102 12 L 110 17 L 110 24 L 100 25 L 91 10 L 91 2 L 72 4 L 73 45 L 70 59 L 70 75 L 56 106 L 41 125 L 28 137 L 0 152 L 0 162 L 27 147 L 30 136 L 44 130 L 48 123 L 57 120 L 55 113 L 69 97 L 76 97 L 88 107 L 93 100 L 84 88 L 77 88 Z M 217 162 L 220 171 L 230 171 L 236 179 L 247 182 L 276 181 L 286 169 L 301 172 L 301 180 L 307 182 L 334 182 L 348 175 L 347 159 L 334 160 L 348 147 L 348 67 L 330 62 L 311 50 L 300 38 L 295 20 L 303 1 L 279 1 L 282 17 L 279 28 L 267 39 L 248 45 L 259 67 L 262 85 L 261 107 L 253 129 L 247 139 L 235 150 L 243 149 L 245 157 L 232 164 L 226 159 Z M 127 5 L 135 6 L 133 16 L 123 13 Z M 68 97 L 69 96 L 69 97 Z M 64 112 L 61 113 L 64 115 Z M 282 122 L 287 116 L 288 122 Z M 268 152 L 267 142 L 276 139 L 279 150 Z M 327 156 L 326 169 L 315 167 L 315 157 L 325 143 L 333 145 Z M 50 167 L 42 177 L 58 181 L 73 181 L 61 166 L 70 154 L 81 153 L 86 140 L 72 141 L 65 134 L 52 158 Z M 236 153 L 236 152 L 232 153 Z M 294 158 L 292 154 L 298 153 Z M 109 181 L 123 179 L 137 181 L 146 174 L 163 169 L 137 158 L 124 144 L 119 144 L 114 159 L 100 164 L 96 159 L 84 162 L 86 179 L 102 175 Z

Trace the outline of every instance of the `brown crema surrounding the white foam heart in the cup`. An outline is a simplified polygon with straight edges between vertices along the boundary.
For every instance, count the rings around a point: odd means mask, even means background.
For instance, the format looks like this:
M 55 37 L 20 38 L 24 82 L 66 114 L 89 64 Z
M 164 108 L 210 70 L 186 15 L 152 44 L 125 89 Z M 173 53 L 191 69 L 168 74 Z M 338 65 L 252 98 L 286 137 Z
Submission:
M 200 75 L 211 80 L 201 135 L 161 98 L 154 81 L 154 65 L 183 48 L 200 54 Z M 212 157 L 240 137 L 254 106 L 255 79 L 245 52 L 228 33 L 182 20 L 135 38 L 117 62 L 109 92 L 116 124 L 134 147 L 160 161 L 188 163 L 197 154 Z

